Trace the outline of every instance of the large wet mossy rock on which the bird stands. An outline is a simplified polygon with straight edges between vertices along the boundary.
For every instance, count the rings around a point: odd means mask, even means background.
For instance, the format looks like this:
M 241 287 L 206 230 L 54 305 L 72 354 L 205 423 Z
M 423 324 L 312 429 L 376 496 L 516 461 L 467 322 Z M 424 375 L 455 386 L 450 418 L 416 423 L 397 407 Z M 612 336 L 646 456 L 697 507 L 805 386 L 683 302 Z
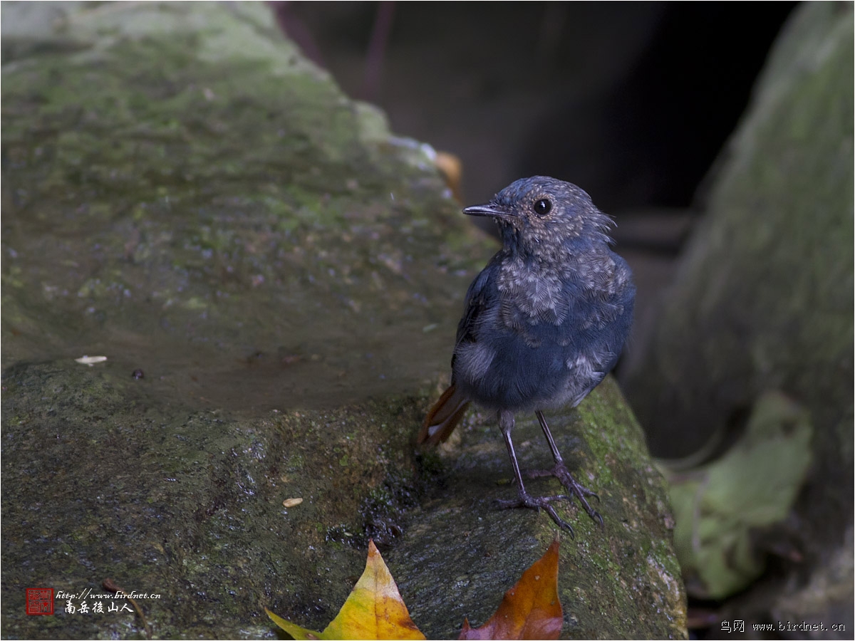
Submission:
M 261 3 L 46 5 L 16 39 L 32 11 L 3 5 L 3 635 L 270 637 L 263 606 L 322 628 L 369 538 L 428 635 L 475 621 L 554 529 L 492 509 L 492 420 L 413 446 L 494 250 L 429 148 Z M 568 516 L 565 634 L 685 636 L 663 480 L 613 383 L 561 424 L 606 517 Z M 80 614 L 105 579 L 159 595 L 145 622 Z M 77 611 L 27 616 L 39 586 Z

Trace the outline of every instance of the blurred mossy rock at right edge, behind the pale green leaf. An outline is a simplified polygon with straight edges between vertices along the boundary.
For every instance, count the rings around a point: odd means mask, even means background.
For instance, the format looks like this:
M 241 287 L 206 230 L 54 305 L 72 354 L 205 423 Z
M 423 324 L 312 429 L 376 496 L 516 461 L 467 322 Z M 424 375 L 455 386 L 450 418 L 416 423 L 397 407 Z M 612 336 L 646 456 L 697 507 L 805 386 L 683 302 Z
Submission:
M 842 553 L 852 544 L 852 39 L 851 4 L 802 5 L 783 30 L 628 375 L 661 456 L 743 425 L 764 395 L 807 411 L 810 472 L 787 518 L 775 509 L 776 540 L 752 532 L 752 554 L 784 558 L 728 613 L 799 622 L 846 613 L 834 621 L 848 622 L 843 637 L 852 634 L 852 555 Z M 832 571 L 833 559 L 848 566 Z M 816 593 L 794 607 L 805 575 L 834 586 L 822 607 Z

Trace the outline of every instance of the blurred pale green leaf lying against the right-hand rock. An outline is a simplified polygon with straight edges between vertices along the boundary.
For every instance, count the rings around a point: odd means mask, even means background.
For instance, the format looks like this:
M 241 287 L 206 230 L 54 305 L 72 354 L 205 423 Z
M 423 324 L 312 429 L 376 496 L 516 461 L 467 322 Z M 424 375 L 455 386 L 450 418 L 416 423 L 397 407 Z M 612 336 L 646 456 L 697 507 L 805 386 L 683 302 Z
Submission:
M 791 513 L 813 464 L 813 434 L 811 413 L 769 390 L 723 456 L 687 472 L 663 466 L 689 594 L 723 599 L 764 572 L 763 532 L 775 532 Z

